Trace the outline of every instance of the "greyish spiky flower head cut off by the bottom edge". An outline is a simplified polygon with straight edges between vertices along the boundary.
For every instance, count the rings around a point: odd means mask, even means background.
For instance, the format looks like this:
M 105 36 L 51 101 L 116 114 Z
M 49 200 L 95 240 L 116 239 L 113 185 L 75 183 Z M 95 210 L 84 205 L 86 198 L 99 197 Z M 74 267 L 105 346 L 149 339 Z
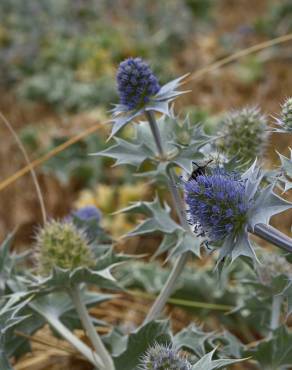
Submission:
M 141 361 L 141 370 L 190 370 L 191 364 L 172 346 L 155 344 Z

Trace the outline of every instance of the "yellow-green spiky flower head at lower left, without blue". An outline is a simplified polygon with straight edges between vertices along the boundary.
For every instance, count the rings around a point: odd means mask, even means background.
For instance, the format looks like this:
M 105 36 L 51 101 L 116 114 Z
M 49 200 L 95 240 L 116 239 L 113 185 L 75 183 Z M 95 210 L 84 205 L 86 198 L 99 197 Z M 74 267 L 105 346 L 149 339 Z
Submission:
M 36 239 L 36 261 L 43 275 L 48 275 L 54 267 L 73 270 L 94 264 L 85 234 L 72 222 L 49 221 Z

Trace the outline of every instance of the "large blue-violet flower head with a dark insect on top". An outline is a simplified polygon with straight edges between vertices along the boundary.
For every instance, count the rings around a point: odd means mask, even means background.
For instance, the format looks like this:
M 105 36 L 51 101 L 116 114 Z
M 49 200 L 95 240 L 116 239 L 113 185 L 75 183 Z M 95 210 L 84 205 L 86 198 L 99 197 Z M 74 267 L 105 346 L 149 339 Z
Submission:
M 189 220 L 199 235 L 216 242 L 242 231 L 249 204 L 245 182 L 237 174 L 215 168 L 190 178 L 184 188 Z

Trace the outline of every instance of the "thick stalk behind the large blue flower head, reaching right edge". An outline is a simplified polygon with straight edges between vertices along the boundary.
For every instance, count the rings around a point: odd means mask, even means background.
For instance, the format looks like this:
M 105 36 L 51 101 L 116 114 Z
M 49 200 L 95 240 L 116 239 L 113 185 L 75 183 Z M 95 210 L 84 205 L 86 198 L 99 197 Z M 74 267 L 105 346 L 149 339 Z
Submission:
M 254 235 L 274 244 L 276 247 L 286 252 L 292 253 L 292 239 L 273 226 L 266 224 L 256 224 L 253 230 L 249 230 Z

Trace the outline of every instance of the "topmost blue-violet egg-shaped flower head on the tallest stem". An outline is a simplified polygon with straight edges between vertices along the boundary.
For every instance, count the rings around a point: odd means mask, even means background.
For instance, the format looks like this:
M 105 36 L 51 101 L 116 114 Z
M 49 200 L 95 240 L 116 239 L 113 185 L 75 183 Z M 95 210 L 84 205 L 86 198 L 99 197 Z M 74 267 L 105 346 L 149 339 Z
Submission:
M 129 58 L 120 63 L 117 83 L 120 103 L 129 110 L 142 107 L 160 90 L 157 78 L 141 58 Z

